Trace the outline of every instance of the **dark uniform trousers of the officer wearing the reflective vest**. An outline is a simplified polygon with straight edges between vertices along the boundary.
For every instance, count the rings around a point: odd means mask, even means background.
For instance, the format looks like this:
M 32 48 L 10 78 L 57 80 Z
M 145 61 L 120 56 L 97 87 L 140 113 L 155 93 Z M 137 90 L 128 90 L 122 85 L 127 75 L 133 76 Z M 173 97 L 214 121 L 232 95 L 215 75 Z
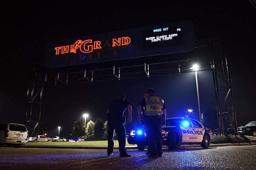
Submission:
M 162 155 L 162 122 L 161 116 L 146 116 L 149 145 L 148 150 L 152 155 Z

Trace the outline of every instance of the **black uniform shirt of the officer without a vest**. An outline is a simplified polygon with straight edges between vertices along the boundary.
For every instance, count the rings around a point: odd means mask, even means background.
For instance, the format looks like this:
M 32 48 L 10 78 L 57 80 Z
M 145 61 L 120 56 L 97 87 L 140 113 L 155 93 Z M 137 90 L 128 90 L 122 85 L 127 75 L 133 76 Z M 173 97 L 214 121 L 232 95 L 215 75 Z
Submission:
M 128 100 L 124 100 L 122 98 L 113 100 L 107 109 L 109 110 L 108 115 L 111 116 L 122 116 L 123 112 L 127 108 L 127 106 L 130 104 Z

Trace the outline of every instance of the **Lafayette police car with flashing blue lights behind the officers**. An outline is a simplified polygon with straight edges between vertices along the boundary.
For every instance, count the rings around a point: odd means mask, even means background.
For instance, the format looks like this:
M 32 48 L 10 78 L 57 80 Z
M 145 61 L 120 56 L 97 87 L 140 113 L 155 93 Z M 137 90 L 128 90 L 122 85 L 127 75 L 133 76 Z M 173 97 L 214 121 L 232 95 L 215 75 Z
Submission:
M 215 139 L 213 131 L 197 120 L 182 117 L 165 121 L 165 126 L 162 126 L 163 145 L 168 146 L 169 150 L 174 150 L 182 144 L 200 144 L 203 148 L 208 148 L 210 142 Z M 129 144 L 137 144 L 138 150 L 143 151 L 148 145 L 144 128 L 132 129 L 127 141 Z

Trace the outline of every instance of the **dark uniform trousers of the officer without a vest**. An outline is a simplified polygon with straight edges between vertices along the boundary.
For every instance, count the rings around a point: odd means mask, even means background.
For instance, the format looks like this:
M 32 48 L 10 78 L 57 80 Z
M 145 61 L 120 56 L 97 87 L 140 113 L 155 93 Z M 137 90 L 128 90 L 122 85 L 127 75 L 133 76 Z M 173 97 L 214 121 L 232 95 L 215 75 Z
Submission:
M 120 153 L 126 152 L 126 132 L 124 124 L 121 119 L 110 119 L 107 120 L 107 153 L 113 153 L 114 150 L 114 133 L 116 130 L 118 142 L 119 142 L 119 151 Z

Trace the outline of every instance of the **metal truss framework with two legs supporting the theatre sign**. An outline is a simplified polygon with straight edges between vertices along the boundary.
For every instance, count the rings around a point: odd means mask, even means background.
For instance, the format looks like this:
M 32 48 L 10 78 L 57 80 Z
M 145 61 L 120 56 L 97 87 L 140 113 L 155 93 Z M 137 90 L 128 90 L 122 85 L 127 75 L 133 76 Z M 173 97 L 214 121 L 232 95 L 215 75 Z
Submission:
M 237 134 L 236 116 L 230 75 L 223 40 L 205 39 L 196 41 L 190 52 L 146 56 L 114 61 L 97 62 L 59 68 L 45 68 L 44 61 L 32 65 L 25 124 L 29 134 L 32 123 L 39 130 L 43 87 L 153 77 L 161 75 L 211 70 L 213 73 L 216 109 L 220 134 L 224 134 L 223 122 Z M 32 129 L 35 129 L 32 128 Z

